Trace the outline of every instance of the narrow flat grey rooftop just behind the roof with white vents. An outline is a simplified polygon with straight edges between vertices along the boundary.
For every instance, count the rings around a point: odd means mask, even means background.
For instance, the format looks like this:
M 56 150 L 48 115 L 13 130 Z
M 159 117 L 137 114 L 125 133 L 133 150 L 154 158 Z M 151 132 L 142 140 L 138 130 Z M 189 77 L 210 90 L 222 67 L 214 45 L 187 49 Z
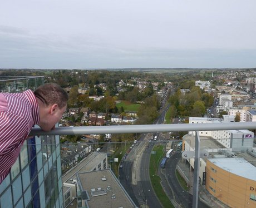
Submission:
M 103 152 L 92 152 L 88 157 L 81 160 L 78 165 L 66 172 L 62 176 L 62 182 L 71 182 L 70 179 L 74 179 L 78 172 L 88 172 L 91 171 L 92 167 L 99 164 L 99 161 L 104 160 L 106 153 Z

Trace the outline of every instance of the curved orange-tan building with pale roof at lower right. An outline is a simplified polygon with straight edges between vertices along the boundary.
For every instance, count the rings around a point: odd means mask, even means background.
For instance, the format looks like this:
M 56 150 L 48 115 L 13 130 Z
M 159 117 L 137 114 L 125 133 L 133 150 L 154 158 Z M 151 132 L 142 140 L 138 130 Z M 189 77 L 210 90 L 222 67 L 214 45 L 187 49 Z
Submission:
M 243 158 L 208 159 L 205 187 L 230 207 L 256 207 L 256 167 Z

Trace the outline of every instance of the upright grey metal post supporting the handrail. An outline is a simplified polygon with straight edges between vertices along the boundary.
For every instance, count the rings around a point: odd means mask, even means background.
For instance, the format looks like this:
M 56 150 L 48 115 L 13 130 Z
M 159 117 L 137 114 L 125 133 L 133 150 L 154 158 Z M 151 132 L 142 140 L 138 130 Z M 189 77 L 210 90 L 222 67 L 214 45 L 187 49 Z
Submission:
M 200 137 L 199 132 L 195 132 L 195 161 L 194 161 L 194 180 L 193 180 L 193 208 L 198 207 L 199 194 L 199 164 L 200 164 Z

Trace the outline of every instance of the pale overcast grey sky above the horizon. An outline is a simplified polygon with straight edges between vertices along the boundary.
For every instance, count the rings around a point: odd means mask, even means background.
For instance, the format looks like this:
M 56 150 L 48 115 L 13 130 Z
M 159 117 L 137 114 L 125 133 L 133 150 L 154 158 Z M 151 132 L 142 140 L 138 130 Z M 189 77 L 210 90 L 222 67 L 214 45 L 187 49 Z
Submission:
M 255 0 L 17 0 L 0 68 L 256 67 Z

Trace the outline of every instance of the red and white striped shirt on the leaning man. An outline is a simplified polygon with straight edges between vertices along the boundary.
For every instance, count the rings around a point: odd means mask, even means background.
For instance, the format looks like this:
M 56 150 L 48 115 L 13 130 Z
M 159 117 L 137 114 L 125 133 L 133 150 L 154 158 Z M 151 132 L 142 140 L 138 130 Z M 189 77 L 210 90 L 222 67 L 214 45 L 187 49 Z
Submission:
M 17 160 L 24 140 L 39 123 L 39 106 L 31 90 L 0 93 L 0 184 Z

